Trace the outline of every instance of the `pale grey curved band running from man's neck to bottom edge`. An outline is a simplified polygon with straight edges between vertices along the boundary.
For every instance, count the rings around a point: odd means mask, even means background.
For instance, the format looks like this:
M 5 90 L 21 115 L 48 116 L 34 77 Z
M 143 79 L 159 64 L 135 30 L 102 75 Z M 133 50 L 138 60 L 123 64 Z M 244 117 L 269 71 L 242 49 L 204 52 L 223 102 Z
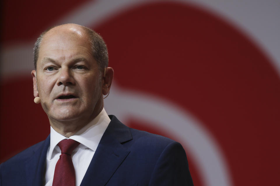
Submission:
M 216 145 L 218 143 L 183 109 L 156 97 L 120 90 L 116 85 L 104 101 L 106 112 L 116 115 L 124 123 L 128 118 L 152 122 L 180 139 L 187 145 L 186 151 L 194 159 L 205 185 L 232 185 L 223 153 Z

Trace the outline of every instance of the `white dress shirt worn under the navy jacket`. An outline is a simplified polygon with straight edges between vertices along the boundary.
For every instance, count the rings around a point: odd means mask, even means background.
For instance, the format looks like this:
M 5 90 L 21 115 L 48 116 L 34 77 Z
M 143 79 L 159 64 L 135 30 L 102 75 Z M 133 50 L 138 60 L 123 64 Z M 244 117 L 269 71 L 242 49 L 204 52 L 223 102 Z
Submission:
M 110 121 L 103 108 L 95 119 L 69 138 L 57 133 L 50 127 L 50 146 L 47 152 L 45 185 L 53 185 L 55 165 L 61 154 L 61 150 L 57 144 L 61 140 L 72 139 L 81 143 L 74 149 L 71 155 L 76 174 L 76 186 L 79 186 Z

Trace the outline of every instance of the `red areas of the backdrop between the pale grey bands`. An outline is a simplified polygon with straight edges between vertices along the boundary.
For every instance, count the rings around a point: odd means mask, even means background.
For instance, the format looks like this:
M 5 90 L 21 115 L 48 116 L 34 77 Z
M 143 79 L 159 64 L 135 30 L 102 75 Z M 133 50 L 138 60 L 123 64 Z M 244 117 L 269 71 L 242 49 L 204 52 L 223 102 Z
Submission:
M 35 42 L 83 3 L 29 1 L 4 1 L 3 46 Z M 181 3 L 144 4 L 87 26 L 107 43 L 119 87 L 171 101 L 204 124 L 222 149 L 232 185 L 280 183 L 279 74 L 246 34 L 203 8 Z M 2 81 L 0 99 L 3 162 L 44 140 L 50 129 L 41 105 L 32 101 L 29 73 Z M 126 124 L 176 140 L 153 124 L 133 119 Z M 186 153 L 195 185 L 207 185 Z

